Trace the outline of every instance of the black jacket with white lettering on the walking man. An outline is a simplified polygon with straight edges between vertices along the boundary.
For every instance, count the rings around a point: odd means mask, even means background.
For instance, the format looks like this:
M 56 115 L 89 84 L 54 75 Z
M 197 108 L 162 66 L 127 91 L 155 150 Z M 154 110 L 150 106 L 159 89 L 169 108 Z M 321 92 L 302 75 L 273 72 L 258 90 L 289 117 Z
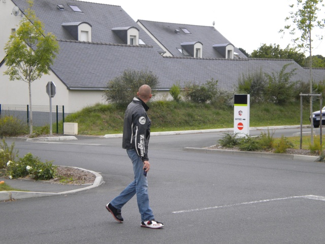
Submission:
M 149 160 L 151 120 L 146 113 L 148 109 L 149 107 L 141 99 L 134 98 L 127 106 L 124 115 L 122 147 L 135 149 L 142 161 Z

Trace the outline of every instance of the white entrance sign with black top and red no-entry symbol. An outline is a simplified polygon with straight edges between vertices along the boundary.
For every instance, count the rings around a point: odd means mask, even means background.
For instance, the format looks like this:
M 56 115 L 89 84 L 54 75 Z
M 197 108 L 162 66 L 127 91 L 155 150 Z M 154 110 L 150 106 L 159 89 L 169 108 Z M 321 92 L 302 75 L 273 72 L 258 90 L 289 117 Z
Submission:
M 235 94 L 234 133 L 240 137 L 249 135 L 249 94 Z

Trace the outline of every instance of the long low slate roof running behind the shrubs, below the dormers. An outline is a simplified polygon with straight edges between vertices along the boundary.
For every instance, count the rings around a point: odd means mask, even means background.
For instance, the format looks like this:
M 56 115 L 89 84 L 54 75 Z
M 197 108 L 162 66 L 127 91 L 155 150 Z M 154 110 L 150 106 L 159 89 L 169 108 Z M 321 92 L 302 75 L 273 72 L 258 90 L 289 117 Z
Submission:
M 125 69 L 152 71 L 159 78 L 159 90 L 179 82 L 204 83 L 211 78 L 218 80 L 218 87 L 233 89 L 241 74 L 262 69 L 279 72 L 292 63 L 286 72 L 296 68 L 293 80 L 308 82 L 308 70 L 290 59 L 224 59 L 162 57 L 152 46 L 102 44 L 79 41 L 59 41 L 60 53 L 51 67 L 69 89 L 104 89 L 109 80 L 120 76 Z M 325 79 L 325 69 L 319 69 L 319 80 Z M 317 74 L 314 72 L 314 80 Z

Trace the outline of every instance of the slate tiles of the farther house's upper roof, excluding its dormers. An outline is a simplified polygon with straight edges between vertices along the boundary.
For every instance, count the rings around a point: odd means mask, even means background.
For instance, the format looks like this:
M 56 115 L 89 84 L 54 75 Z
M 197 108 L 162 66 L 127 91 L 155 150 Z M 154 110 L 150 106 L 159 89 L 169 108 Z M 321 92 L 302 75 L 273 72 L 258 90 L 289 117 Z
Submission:
M 213 26 L 165 23 L 148 20 L 138 20 L 138 22 L 145 26 L 150 34 L 159 40 L 159 42 L 175 57 L 184 56 L 177 50 L 177 48 L 181 48 L 181 43 L 201 42 L 203 44 L 202 53 L 204 58 L 223 58 L 223 56 L 213 48 L 213 45 L 231 43 Z M 185 34 L 182 28 L 186 28 L 191 34 Z M 176 29 L 179 30 L 179 32 L 175 32 Z M 240 54 L 240 58 L 247 58 L 236 46 L 234 51 Z

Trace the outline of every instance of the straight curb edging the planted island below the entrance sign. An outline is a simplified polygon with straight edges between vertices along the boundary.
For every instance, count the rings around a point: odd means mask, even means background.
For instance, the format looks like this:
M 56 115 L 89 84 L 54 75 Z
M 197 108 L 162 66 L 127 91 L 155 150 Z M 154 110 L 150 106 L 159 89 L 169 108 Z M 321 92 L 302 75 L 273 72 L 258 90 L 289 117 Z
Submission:
M 319 158 L 317 156 L 296 155 L 296 154 L 273 154 L 273 153 L 261 153 L 259 151 L 236 151 L 236 150 L 206 149 L 206 148 L 195 148 L 195 147 L 185 147 L 184 150 L 197 151 L 199 153 L 206 153 L 206 154 L 252 156 L 256 158 L 289 159 L 289 160 L 300 160 L 300 161 L 310 161 L 310 162 L 315 162 Z

